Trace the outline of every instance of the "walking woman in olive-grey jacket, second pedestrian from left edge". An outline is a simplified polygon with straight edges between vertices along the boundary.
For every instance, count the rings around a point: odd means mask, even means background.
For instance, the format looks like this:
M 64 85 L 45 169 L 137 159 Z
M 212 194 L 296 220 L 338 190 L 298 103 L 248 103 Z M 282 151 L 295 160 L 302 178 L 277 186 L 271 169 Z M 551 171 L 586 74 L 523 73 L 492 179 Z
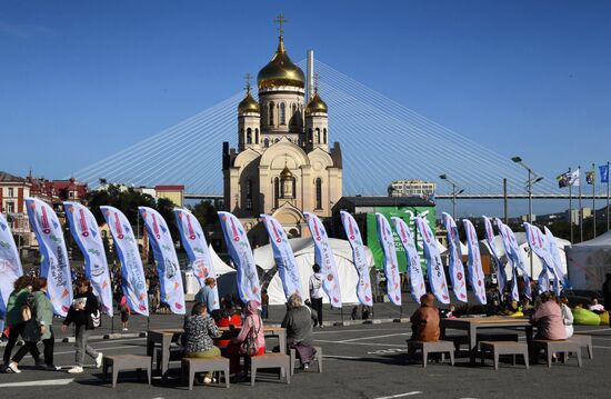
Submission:
M 53 307 L 47 298 L 47 279 L 39 277 L 33 281 L 33 292 L 29 299 L 31 303 L 31 319 L 26 322 L 23 329 L 23 341 L 26 342 L 13 356 L 8 370 L 19 373 L 19 362 L 27 352 L 38 353 L 36 345 L 42 340 L 44 346 L 44 369 L 57 371 L 60 368 L 53 363 L 53 347 L 56 338 L 53 336 Z M 37 366 L 42 367 L 42 365 Z

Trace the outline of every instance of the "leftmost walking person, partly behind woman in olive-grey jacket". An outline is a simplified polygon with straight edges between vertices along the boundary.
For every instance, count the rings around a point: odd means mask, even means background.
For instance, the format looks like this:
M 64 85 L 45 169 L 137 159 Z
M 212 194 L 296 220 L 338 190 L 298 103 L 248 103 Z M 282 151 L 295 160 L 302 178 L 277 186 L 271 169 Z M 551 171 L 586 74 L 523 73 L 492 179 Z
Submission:
M 28 297 L 32 293 L 32 279 L 29 276 L 21 276 L 13 282 L 13 291 L 9 296 L 7 302 L 6 322 L 9 330 L 7 346 L 4 347 L 3 366 L 7 368 L 11 361 L 11 353 L 17 343 L 19 336 L 23 335 L 26 328 L 26 321 L 23 320 L 23 311 L 27 317 L 31 317 L 31 310 L 28 305 Z M 27 308 L 27 309 L 24 309 Z M 38 357 L 40 352 L 38 350 L 32 353 L 32 357 L 37 359 L 37 363 L 40 362 Z

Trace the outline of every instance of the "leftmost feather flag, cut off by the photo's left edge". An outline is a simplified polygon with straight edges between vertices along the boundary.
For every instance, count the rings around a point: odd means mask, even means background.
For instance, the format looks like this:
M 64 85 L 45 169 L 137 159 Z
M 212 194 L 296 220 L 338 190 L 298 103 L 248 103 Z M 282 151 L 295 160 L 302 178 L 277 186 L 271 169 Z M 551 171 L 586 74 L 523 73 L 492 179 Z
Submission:
M 0 318 L 3 318 L 7 312 L 13 282 L 21 276 L 23 276 L 23 268 L 11 228 L 7 218 L 0 213 Z

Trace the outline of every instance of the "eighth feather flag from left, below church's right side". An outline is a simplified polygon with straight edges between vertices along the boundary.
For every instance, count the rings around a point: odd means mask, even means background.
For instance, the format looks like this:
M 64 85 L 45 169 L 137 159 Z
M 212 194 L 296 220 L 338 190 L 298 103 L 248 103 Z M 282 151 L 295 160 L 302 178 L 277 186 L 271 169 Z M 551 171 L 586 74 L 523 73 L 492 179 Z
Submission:
M 276 267 L 278 268 L 278 275 L 282 281 L 282 288 L 284 289 L 284 296 L 287 299 L 297 293 L 302 300 L 306 299 L 303 292 L 301 292 L 301 278 L 299 277 L 299 269 L 297 261 L 294 260 L 294 253 L 289 245 L 287 232 L 284 228 L 276 218 L 269 215 L 261 215 L 266 229 L 270 236 L 271 248 L 273 250 L 273 259 L 276 260 Z

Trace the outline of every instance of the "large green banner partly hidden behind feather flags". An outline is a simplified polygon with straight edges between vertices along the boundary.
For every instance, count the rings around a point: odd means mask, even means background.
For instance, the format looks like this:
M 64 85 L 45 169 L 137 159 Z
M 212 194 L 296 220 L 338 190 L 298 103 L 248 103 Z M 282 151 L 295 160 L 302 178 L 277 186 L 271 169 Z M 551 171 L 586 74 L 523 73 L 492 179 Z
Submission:
M 415 247 L 418 248 L 418 253 L 422 261 L 422 270 L 427 270 L 427 265 L 424 262 L 424 257 L 422 255 L 422 247 L 420 246 L 420 240 L 418 232 L 415 230 L 415 221 L 412 220 L 412 217 L 421 216 L 429 220 L 429 225 L 435 226 L 435 209 L 434 207 L 377 207 L 375 212 L 382 213 L 392 226 L 391 217 L 401 218 L 409 226 L 414 239 L 417 240 Z M 392 236 L 394 237 L 394 248 L 397 249 L 397 260 L 399 261 L 399 271 L 405 272 L 408 260 L 405 259 L 405 252 L 399 236 L 394 231 L 394 226 L 392 230 Z M 375 262 L 375 268 L 384 268 L 384 252 L 382 247 L 380 247 L 380 241 L 378 240 L 378 231 L 375 226 L 375 213 L 367 213 L 367 246 L 371 249 L 373 253 L 373 261 Z

